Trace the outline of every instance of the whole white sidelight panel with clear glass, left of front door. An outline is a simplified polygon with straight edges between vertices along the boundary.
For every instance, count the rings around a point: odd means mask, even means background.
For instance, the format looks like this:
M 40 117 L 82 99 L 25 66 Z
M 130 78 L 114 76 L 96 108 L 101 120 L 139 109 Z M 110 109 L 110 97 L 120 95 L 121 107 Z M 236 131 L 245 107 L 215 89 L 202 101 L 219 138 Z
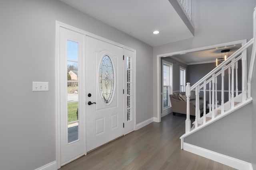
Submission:
M 61 165 L 85 153 L 84 35 L 60 27 Z

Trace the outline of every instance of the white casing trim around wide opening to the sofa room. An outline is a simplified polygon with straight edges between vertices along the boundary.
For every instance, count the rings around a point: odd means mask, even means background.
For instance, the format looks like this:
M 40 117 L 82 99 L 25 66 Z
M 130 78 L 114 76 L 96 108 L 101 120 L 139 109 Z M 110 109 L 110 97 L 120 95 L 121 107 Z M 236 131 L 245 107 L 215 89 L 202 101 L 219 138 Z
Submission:
M 156 96 L 156 104 L 157 104 L 157 121 L 156 122 L 161 122 L 161 57 L 170 57 L 173 55 L 180 55 L 182 53 L 191 53 L 191 52 L 196 52 L 196 51 L 204 51 L 208 49 L 214 49 L 218 47 L 225 47 L 229 45 L 234 45 L 234 44 L 246 44 L 247 40 L 242 39 L 239 41 L 232 41 L 228 43 L 222 43 L 222 44 L 217 44 L 217 45 L 210 45 L 206 47 L 199 47 L 195 49 L 188 49 L 188 50 L 183 50 L 183 51 L 176 51 L 176 52 L 171 52 L 171 53 L 165 53 L 165 54 L 159 54 L 156 55 L 156 82 L 157 82 L 157 96 Z M 242 55 L 247 55 L 246 50 L 242 52 Z M 247 71 L 247 69 L 245 69 Z M 247 74 L 246 74 L 247 75 Z M 246 80 L 247 81 L 247 80 Z

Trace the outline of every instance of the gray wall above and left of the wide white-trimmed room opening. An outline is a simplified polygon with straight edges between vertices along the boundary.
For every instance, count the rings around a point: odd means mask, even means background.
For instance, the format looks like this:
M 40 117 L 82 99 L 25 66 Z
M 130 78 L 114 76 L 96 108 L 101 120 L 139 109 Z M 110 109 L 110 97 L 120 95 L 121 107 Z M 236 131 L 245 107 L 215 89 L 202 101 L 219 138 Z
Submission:
M 153 48 L 153 113 L 157 116 L 157 55 L 252 38 L 255 0 L 192 0 L 194 38 Z M 247 63 L 250 63 L 248 51 Z

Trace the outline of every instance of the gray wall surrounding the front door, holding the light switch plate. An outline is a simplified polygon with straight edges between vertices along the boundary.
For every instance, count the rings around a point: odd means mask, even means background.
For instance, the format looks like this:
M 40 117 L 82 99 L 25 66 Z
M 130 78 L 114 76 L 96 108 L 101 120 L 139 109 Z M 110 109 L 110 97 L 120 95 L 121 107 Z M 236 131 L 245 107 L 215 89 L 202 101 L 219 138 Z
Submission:
M 136 49 L 137 123 L 153 116 L 151 46 L 58 0 L 1 0 L 0 169 L 56 160 L 55 20 Z M 49 91 L 32 92 L 32 81 Z

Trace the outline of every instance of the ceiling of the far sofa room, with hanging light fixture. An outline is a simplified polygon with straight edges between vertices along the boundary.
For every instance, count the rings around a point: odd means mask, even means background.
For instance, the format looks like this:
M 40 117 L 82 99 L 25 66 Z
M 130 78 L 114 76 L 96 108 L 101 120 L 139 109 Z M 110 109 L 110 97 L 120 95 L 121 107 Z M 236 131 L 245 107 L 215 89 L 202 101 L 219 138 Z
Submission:
M 229 56 L 232 55 L 236 50 L 238 50 L 242 45 L 230 45 L 226 47 L 219 47 L 214 49 L 208 49 L 204 51 L 196 51 L 181 55 L 171 56 L 171 58 L 176 59 L 184 64 L 202 64 L 202 63 L 214 63 L 216 58 L 224 58 L 224 54 L 220 51 L 224 49 L 230 49 Z M 228 53 L 226 53 L 228 55 Z

